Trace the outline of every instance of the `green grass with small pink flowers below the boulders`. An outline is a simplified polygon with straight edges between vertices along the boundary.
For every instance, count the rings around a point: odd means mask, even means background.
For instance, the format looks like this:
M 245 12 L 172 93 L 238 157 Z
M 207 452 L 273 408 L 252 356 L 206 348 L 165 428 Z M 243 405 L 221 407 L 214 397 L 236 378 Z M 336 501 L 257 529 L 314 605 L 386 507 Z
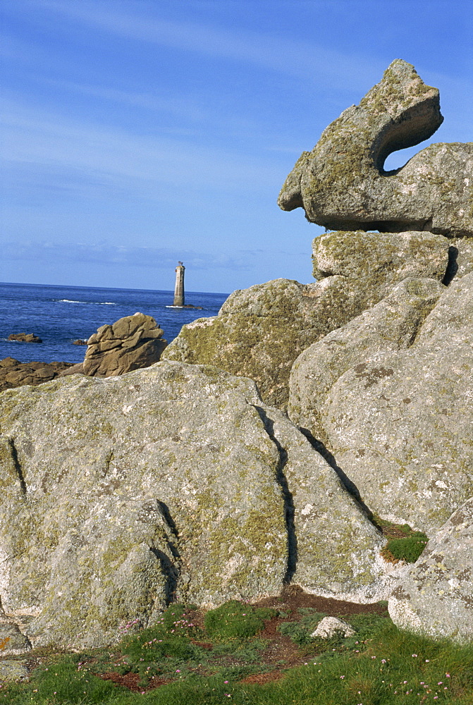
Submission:
M 174 606 L 159 625 L 123 637 L 113 649 L 57 654 L 32 673 L 29 683 L 0 688 L 8 705 L 424 705 L 473 703 L 473 644 L 456 646 L 401 632 L 388 617 L 346 615 L 349 639 L 302 640 L 303 666 L 264 685 L 241 682 L 250 673 L 274 670 L 267 643 L 254 632 L 265 613 L 242 603 L 210 611 L 207 626 Z M 211 615 L 209 617 L 208 615 Z M 266 612 L 267 614 L 267 612 Z M 323 617 L 312 609 L 294 613 L 293 633 L 309 635 Z M 293 616 L 294 616 L 293 614 Z M 220 627 L 217 627 L 217 615 Z M 275 619 L 271 611 L 266 618 Z M 244 618 L 247 618 L 246 620 Z M 251 635 L 241 636 L 245 632 Z M 238 625 L 238 630 L 235 625 Z M 299 632 L 295 630 L 299 625 Z M 234 628 L 235 627 L 235 628 Z M 238 636 L 235 636 L 238 631 Z M 283 630 L 281 630 L 283 631 Z M 288 631 L 288 633 L 290 630 Z M 204 644 L 207 642 L 207 648 Z M 213 649 L 209 650 L 209 642 Z M 142 689 L 130 692 L 99 673 L 138 674 Z M 168 681 L 147 690 L 150 676 Z

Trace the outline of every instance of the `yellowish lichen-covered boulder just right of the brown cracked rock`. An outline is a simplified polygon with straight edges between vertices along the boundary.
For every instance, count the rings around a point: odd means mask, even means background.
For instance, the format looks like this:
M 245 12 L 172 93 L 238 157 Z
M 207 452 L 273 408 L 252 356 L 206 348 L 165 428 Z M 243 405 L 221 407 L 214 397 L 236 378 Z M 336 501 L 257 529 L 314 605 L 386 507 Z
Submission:
M 276 279 L 237 290 L 219 315 L 183 326 L 163 360 L 213 364 L 256 381 L 266 403 L 284 409 L 297 355 L 364 308 L 356 282 L 333 276 L 300 284 Z

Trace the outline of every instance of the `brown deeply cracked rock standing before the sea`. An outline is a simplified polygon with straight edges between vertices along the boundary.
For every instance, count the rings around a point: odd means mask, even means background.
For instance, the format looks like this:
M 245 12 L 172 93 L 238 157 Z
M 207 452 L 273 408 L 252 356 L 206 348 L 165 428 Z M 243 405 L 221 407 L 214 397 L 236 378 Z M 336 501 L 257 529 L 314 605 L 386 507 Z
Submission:
M 110 377 L 158 362 L 168 344 L 151 316 L 135 313 L 102 326 L 87 341 L 83 374 Z M 80 369 L 78 369 L 80 372 Z

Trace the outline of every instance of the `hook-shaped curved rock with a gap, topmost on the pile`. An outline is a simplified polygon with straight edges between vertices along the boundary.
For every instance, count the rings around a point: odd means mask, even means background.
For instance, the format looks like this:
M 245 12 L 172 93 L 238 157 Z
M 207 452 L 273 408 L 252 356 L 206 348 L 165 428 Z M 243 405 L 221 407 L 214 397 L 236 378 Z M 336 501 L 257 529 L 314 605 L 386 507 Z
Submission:
M 396 59 L 381 82 L 302 152 L 283 185 L 283 210 L 305 209 L 330 230 L 420 230 L 473 235 L 473 143 L 438 143 L 383 171 L 391 152 L 434 134 L 438 90 Z

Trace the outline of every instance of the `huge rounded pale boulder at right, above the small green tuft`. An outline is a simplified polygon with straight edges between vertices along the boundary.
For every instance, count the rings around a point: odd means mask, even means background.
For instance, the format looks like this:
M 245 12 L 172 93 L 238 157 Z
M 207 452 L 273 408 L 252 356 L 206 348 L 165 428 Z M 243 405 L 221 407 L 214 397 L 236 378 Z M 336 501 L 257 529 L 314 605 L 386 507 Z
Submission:
M 303 353 L 290 416 L 371 510 L 429 534 L 471 495 L 473 274 L 435 306 L 441 285 L 414 282 Z

